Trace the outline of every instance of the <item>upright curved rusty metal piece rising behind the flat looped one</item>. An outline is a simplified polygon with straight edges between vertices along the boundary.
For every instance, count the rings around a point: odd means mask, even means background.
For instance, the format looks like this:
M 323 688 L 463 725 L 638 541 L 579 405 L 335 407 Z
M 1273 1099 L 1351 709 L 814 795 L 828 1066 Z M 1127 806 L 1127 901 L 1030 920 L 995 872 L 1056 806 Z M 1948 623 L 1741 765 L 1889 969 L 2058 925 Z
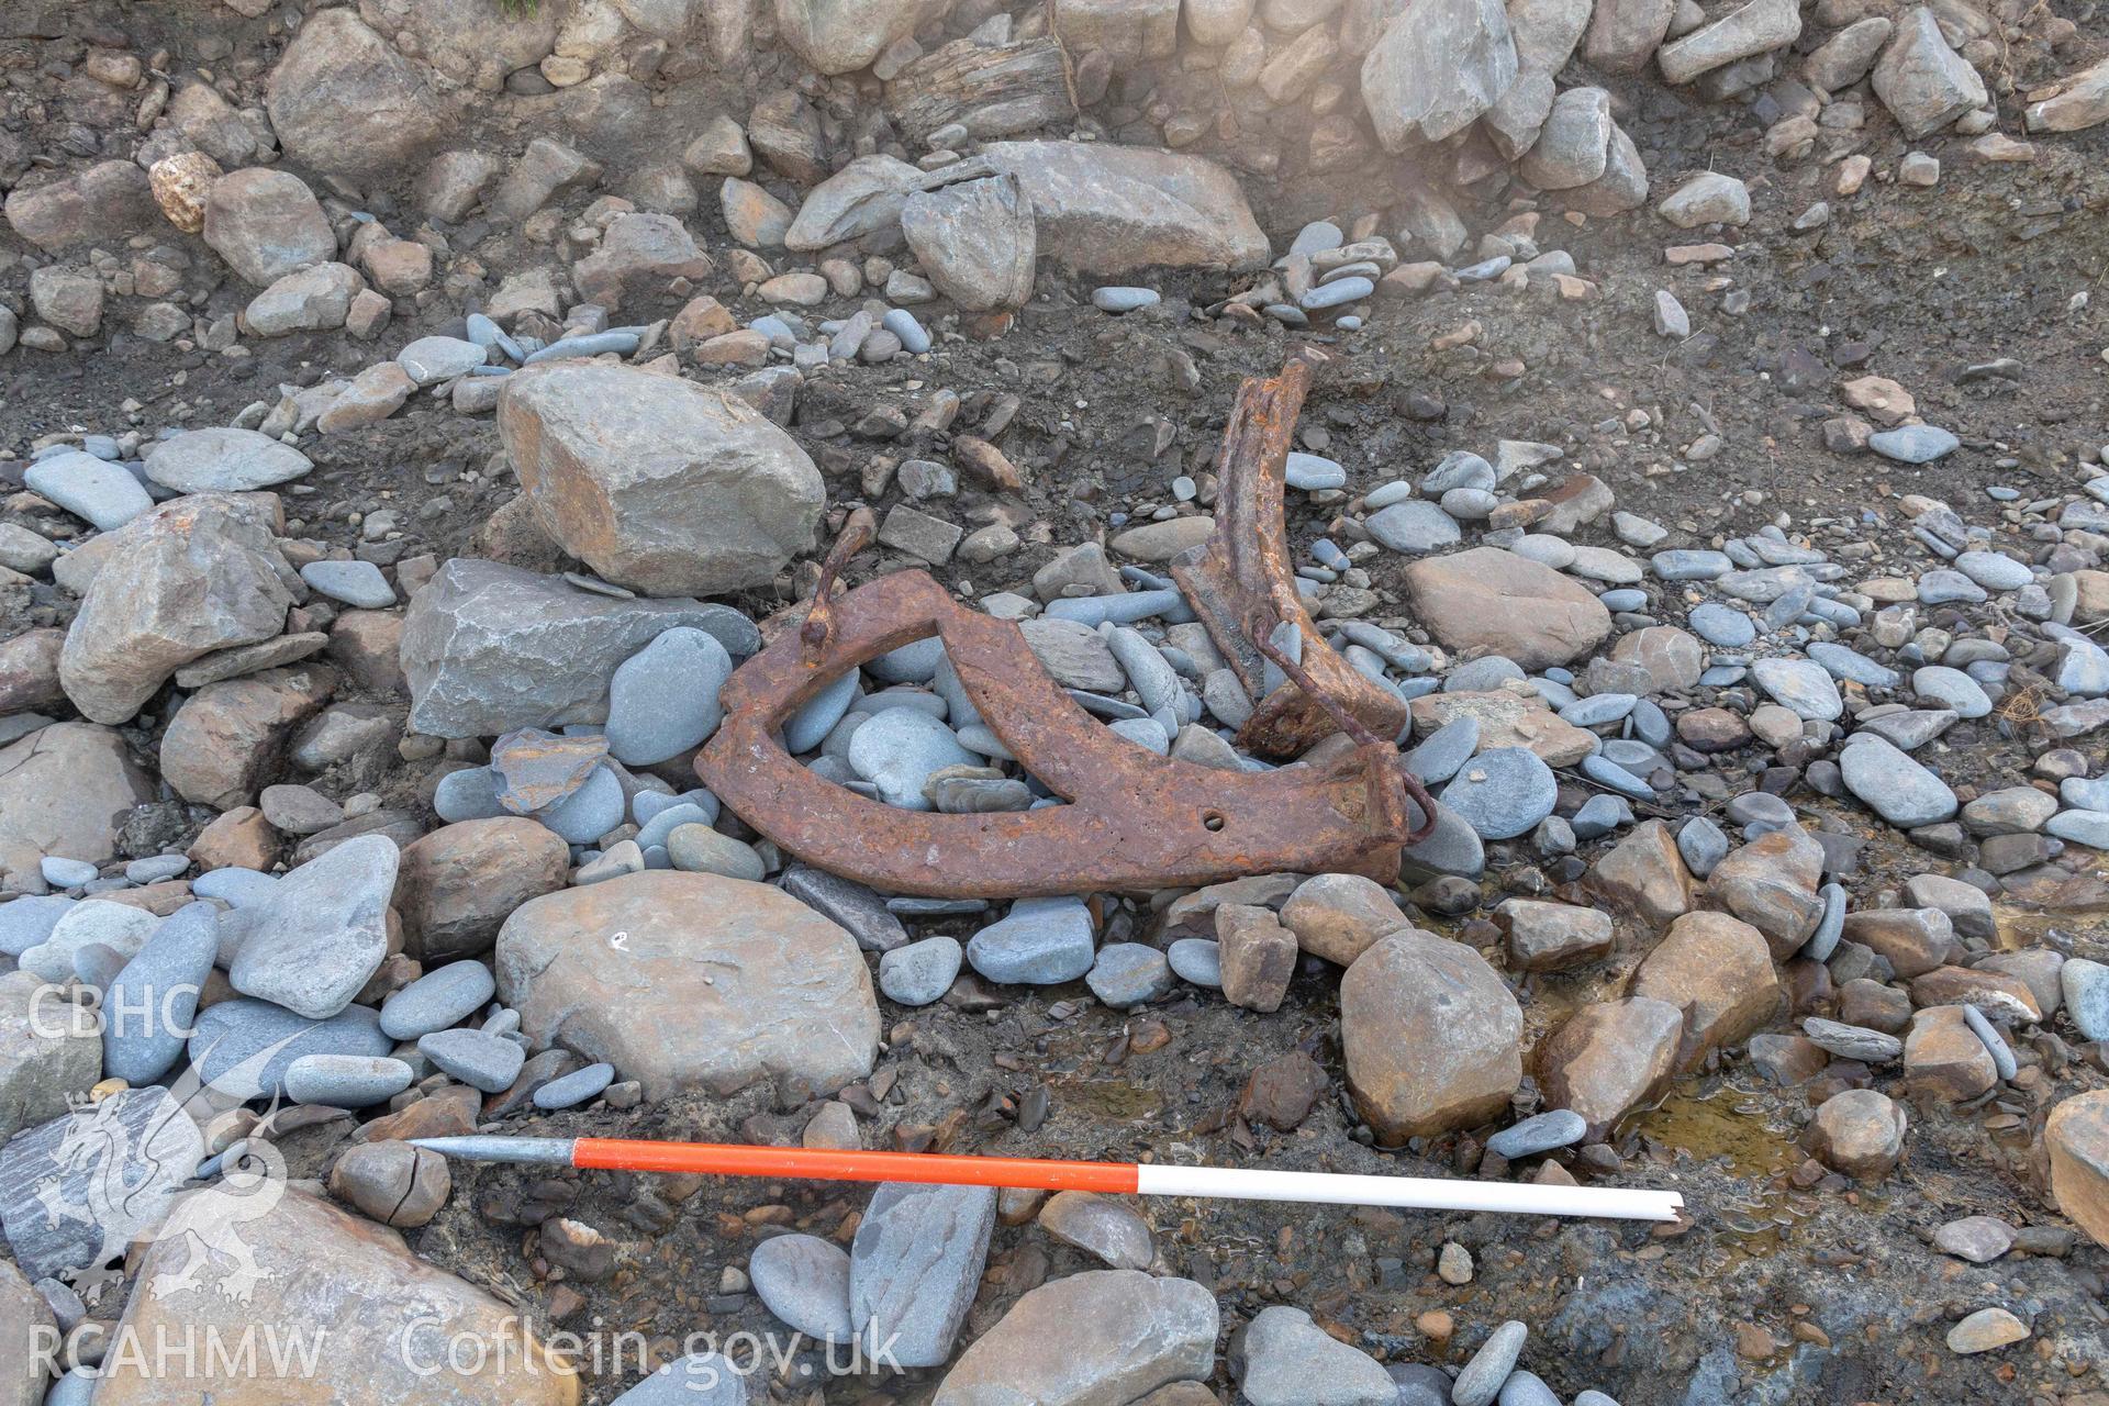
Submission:
M 1310 363 L 1297 358 L 1272 379 L 1244 382 L 1223 430 L 1215 535 L 1173 561 L 1173 580 L 1255 702 L 1253 717 L 1238 729 L 1238 742 L 1255 757 L 1301 757 L 1337 731 L 1339 723 L 1322 700 L 1386 740 L 1407 725 L 1407 704 L 1335 653 L 1297 597 L 1282 527 L 1282 489 L 1289 434 L 1310 379 Z M 1268 658 L 1259 643 L 1278 626 L 1301 637 L 1299 662 L 1312 689 L 1293 679 L 1268 689 Z M 1299 651 L 1286 653 L 1297 658 Z

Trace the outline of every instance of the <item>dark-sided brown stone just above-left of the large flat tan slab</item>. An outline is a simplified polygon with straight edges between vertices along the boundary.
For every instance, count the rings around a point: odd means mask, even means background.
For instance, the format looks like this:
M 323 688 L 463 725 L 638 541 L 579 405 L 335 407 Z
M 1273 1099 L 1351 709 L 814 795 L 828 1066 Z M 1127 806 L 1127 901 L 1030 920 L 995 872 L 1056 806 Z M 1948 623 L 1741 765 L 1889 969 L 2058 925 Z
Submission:
M 572 850 L 521 816 L 443 824 L 403 850 L 394 909 L 403 951 L 439 965 L 491 951 L 517 906 L 565 885 Z

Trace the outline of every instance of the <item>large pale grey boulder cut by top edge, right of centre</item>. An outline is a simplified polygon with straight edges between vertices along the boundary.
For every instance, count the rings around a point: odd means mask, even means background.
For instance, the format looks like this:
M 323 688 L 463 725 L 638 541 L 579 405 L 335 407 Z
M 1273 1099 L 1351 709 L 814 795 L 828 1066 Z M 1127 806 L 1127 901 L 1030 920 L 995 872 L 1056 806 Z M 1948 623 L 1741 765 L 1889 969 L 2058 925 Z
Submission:
M 1424 0 L 1362 59 L 1362 105 L 1386 152 L 1462 133 L 1516 80 L 1502 0 Z

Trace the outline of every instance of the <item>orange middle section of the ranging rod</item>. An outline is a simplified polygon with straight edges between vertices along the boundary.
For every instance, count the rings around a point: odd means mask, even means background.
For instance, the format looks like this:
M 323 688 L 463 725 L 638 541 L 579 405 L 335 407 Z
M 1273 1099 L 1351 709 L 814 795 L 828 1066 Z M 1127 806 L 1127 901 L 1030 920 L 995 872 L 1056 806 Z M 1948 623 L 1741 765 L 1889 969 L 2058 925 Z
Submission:
M 572 1166 L 620 1172 L 700 1172 L 707 1176 L 787 1176 L 812 1180 L 911 1180 L 953 1187 L 1031 1187 L 1040 1191 L 1135 1193 L 1137 1168 L 1124 1161 L 1042 1161 L 1038 1157 L 953 1157 L 945 1153 L 846 1153 L 818 1147 L 736 1147 L 730 1143 L 639 1143 L 578 1138 Z

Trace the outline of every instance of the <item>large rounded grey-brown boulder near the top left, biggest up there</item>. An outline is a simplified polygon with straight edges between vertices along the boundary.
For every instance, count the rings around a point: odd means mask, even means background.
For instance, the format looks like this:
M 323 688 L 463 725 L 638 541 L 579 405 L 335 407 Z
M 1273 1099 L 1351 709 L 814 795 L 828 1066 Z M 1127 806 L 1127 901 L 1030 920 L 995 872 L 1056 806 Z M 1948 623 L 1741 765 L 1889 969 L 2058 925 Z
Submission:
M 348 181 L 411 171 L 449 131 L 418 65 L 344 8 L 308 17 L 264 108 L 287 156 Z

